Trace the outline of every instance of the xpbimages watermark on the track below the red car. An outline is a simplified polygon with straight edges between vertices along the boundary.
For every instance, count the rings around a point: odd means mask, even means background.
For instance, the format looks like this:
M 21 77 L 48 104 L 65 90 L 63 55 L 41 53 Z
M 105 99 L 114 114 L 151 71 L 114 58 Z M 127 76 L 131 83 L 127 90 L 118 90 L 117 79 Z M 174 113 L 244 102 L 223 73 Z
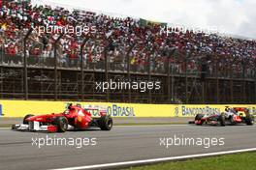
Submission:
M 77 138 L 64 138 L 57 137 L 32 137 L 31 139 L 32 146 L 36 146 L 39 149 L 46 146 L 70 146 L 80 149 L 86 146 L 95 146 L 97 145 L 97 138 L 86 138 L 86 137 L 77 137 Z

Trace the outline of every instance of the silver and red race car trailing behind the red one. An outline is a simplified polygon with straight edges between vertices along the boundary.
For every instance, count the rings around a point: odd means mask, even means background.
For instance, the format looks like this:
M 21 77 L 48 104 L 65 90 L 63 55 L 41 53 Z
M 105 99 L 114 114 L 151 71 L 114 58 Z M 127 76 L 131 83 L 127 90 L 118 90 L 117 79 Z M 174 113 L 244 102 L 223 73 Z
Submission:
M 197 114 L 195 121 L 189 121 L 189 124 L 202 126 L 207 125 L 237 125 L 246 124 L 252 126 L 254 124 L 254 116 L 249 113 L 249 109 L 245 107 L 226 107 L 221 114 Z

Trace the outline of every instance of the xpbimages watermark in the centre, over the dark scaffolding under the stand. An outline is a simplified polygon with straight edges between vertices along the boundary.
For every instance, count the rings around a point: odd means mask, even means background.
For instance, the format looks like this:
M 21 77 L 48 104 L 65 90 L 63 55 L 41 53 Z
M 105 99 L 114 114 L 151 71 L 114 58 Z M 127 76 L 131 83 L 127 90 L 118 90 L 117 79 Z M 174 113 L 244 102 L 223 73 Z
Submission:
M 96 82 L 96 90 L 106 92 L 106 90 L 139 90 L 146 92 L 148 90 L 160 90 L 160 81 L 112 81 Z

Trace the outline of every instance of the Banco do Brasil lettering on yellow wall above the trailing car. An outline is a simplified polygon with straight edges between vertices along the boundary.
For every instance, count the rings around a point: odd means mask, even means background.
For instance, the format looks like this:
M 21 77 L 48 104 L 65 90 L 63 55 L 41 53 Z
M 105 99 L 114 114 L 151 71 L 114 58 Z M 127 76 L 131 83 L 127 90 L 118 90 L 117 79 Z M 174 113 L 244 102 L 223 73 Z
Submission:
M 214 107 L 191 107 L 191 106 L 181 106 L 182 116 L 195 116 L 197 114 L 220 114 L 219 108 Z

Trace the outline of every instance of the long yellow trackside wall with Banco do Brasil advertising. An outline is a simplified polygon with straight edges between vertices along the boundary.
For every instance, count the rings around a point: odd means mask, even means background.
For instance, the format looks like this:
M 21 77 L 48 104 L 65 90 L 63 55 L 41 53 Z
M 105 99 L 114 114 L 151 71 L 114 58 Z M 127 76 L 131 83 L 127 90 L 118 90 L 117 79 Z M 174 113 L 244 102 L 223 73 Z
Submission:
M 71 101 L 0 100 L 0 117 L 24 117 L 26 114 L 61 113 Z M 72 102 L 85 108 L 107 110 L 112 117 L 194 117 L 198 113 L 221 113 L 227 104 L 135 104 L 107 102 Z M 256 115 L 256 104 L 230 104 L 248 107 Z M 94 116 L 97 112 L 92 113 Z

